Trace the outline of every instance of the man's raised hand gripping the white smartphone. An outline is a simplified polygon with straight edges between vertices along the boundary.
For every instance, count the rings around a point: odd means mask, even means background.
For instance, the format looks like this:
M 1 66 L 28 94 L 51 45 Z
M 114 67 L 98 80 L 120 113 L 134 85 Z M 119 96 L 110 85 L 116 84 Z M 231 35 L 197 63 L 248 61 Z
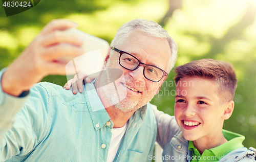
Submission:
M 19 96 L 47 75 L 66 75 L 68 62 L 58 59 L 71 60 L 83 54 L 82 40 L 65 31 L 77 26 L 65 19 L 49 22 L 3 74 L 3 91 Z

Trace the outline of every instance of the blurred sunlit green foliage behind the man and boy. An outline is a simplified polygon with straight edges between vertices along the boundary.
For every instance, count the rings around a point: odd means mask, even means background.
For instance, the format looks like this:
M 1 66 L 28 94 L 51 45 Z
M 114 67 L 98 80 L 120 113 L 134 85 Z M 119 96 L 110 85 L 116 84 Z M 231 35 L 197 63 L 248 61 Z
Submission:
M 0 3 L 1 4 L 1 3 Z M 245 135 L 245 147 L 256 147 L 256 1 L 255 0 L 74 0 L 41 2 L 6 17 L 0 7 L 0 69 L 7 67 L 52 19 L 68 18 L 79 29 L 109 42 L 126 21 L 145 18 L 159 22 L 178 44 L 176 66 L 213 58 L 231 62 L 239 83 L 235 109 L 224 129 Z M 175 89 L 171 72 L 152 103 L 174 115 Z M 64 85 L 66 76 L 42 81 Z M 164 95 L 165 92 L 165 95 Z M 162 94 L 161 94 L 162 93 Z

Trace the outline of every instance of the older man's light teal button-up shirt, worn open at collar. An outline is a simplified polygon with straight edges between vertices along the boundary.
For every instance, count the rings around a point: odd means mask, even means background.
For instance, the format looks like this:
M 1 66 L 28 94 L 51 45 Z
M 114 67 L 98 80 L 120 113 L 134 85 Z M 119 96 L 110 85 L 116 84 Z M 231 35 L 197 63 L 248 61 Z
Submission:
M 113 122 L 90 87 L 93 83 L 73 95 L 42 82 L 27 97 L 17 98 L 0 86 L 0 161 L 106 161 Z M 157 133 L 151 104 L 138 109 L 127 124 L 114 161 L 148 161 Z

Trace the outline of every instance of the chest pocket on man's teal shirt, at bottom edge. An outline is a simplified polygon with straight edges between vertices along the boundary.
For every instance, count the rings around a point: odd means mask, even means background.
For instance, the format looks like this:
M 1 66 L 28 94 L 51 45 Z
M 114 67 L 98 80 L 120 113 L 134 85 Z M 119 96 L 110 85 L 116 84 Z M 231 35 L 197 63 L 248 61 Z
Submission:
M 133 151 L 133 150 L 127 150 L 124 155 L 123 159 L 121 161 L 146 161 L 146 156 L 144 153 Z

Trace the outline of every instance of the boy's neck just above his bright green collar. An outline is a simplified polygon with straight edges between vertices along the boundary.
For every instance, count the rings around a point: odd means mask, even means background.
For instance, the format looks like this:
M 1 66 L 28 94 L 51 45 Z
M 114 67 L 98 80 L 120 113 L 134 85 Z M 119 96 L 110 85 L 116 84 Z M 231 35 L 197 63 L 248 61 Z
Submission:
M 228 142 L 222 132 L 218 134 L 219 135 L 215 134 L 211 137 L 201 137 L 198 140 L 193 141 L 194 146 L 197 148 L 201 155 L 206 149 L 209 150 Z

